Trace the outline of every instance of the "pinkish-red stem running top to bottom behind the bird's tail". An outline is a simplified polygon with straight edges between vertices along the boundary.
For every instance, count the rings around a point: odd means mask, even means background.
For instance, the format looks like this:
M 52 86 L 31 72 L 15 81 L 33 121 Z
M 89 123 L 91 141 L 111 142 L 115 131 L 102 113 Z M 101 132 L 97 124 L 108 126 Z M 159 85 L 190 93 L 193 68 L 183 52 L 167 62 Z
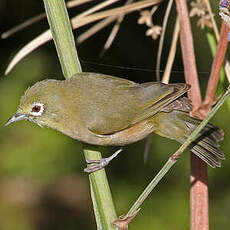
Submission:
M 193 103 L 191 115 L 199 116 L 201 94 L 196 59 L 193 47 L 193 37 L 189 21 L 186 0 L 176 0 L 177 13 L 180 22 L 180 42 L 185 70 L 185 79 L 192 88 L 188 94 Z M 191 158 L 191 190 L 190 190 L 191 230 L 209 229 L 207 166 L 202 160 L 192 154 Z

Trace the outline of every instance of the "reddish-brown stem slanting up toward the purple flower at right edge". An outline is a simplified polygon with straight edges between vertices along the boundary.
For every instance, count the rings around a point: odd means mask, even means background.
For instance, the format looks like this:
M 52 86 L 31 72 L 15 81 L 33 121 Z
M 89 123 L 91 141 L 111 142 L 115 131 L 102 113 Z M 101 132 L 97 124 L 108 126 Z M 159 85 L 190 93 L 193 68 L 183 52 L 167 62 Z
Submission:
M 206 96 L 204 100 L 205 105 L 210 105 L 209 109 L 211 109 L 212 102 L 214 100 L 214 95 L 216 92 L 220 69 L 223 64 L 224 56 L 227 50 L 228 31 L 229 31 L 229 28 L 223 21 L 221 25 L 221 30 L 220 30 L 220 40 L 217 46 L 216 55 L 212 63 L 212 70 L 211 70 L 211 74 L 209 77 L 208 86 L 206 90 Z

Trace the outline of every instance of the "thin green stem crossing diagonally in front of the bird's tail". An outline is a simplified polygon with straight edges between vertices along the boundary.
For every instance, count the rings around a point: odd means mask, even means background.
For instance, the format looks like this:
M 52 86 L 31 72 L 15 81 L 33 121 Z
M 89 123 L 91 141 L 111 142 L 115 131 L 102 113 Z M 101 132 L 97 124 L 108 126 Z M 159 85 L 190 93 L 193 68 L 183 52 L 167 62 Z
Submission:
M 168 159 L 162 169 L 158 172 L 158 174 L 153 178 L 153 180 L 148 184 L 142 194 L 138 197 L 136 202 L 130 208 L 126 217 L 130 217 L 136 214 L 136 212 L 140 209 L 140 206 L 148 197 L 148 195 L 152 192 L 152 190 L 156 187 L 156 185 L 160 182 L 160 180 L 166 175 L 166 173 L 170 170 L 170 168 L 177 162 L 180 158 L 184 150 L 196 139 L 196 136 L 200 133 L 200 131 L 204 128 L 204 126 L 209 122 L 209 120 L 215 115 L 218 109 L 223 105 L 226 99 L 230 96 L 230 87 L 228 87 L 225 94 L 221 97 L 212 111 L 208 114 L 208 116 L 203 120 L 198 127 L 191 133 L 191 135 L 187 138 L 183 145 Z

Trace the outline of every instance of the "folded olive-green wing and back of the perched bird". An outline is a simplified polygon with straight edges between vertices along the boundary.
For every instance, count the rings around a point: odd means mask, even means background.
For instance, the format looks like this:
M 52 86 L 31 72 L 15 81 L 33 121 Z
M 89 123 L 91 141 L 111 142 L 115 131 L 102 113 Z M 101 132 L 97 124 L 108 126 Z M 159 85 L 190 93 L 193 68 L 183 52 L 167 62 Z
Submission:
M 137 84 L 121 78 L 82 73 L 81 119 L 99 135 L 112 134 L 143 121 L 184 94 L 186 84 Z

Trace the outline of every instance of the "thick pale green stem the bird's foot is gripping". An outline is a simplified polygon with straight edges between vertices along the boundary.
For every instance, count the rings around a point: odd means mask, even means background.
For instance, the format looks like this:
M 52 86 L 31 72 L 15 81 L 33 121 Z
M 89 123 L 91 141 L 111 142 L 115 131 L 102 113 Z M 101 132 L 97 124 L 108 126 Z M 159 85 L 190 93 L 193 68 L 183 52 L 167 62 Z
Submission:
M 59 61 L 65 78 L 81 72 L 72 28 L 64 0 L 44 0 L 46 14 Z M 86 159 L 99 160 L 97 147 L 84 145 Z M 115 229 L 112 222 L 117 218 L 105 170 L 89 175 L 91 197 L 98 229 Z

